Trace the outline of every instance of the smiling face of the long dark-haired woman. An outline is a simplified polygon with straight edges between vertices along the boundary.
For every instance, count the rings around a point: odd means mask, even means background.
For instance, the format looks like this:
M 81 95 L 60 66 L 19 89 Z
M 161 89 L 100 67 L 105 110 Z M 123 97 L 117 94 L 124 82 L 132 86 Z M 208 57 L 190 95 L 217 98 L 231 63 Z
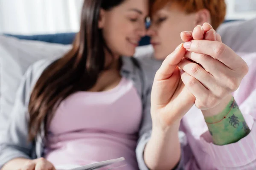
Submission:
M 132 56 L 141 37 L 146 34 L 148 0 L 125 0 L 110 11 L 101 11 L 99 28 L 116 57 Z

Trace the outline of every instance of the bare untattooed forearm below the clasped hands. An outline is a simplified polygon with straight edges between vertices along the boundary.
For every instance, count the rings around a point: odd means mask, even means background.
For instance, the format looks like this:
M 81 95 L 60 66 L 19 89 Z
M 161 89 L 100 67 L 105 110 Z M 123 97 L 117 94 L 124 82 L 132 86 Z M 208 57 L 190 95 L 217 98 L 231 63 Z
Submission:
M 171 170 L 180 160 L 179 124 L 166 132 L 153 128 L 144 150 L 145 164 L 151 170 Z

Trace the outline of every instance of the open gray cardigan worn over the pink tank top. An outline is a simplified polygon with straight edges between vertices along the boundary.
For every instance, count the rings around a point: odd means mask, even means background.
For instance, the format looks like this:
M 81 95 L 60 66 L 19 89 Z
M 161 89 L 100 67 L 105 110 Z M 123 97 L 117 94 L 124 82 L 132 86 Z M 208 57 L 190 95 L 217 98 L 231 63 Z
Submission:
M 0 135 L 0 169 L 5 163 L 15 158 L 36 159 L 44 156 L 44 124 L 41 125 L 41 133 L 38 133 L 33 142 L 28 142 L 28 104 L 30 93 L 44 69 L 53 60 L 41 60 L 31 65 L 26 71 L 20 87 L 17 91 L 15 105 L 9 115 L 6 130 Z M 143 119 L 136 148 L 137 161 L 140 170 L 148 170 L 143 159 L 145 144 L 151 136 L 150 96 L 154 75 L 160 67 L 161 61 L 142 57 L 135 59 L 122 57 L 121 75 L 134 82 L 138 94 L 143 103 Z M 1 123 L 2 120 L 0 120 Z M 182 167 L 180 161 L 177 169 Z

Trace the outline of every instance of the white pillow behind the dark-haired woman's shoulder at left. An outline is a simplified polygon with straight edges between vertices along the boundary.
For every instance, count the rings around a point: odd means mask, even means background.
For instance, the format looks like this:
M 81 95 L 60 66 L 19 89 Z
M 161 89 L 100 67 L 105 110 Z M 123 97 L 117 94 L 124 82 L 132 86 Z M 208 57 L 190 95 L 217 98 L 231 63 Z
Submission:
M 70 48 L 71 45 L 0 36 L 0 119 L 6 119 L 12 111 L 17 88 L 29 65 L 40 59 L 61 57 Z

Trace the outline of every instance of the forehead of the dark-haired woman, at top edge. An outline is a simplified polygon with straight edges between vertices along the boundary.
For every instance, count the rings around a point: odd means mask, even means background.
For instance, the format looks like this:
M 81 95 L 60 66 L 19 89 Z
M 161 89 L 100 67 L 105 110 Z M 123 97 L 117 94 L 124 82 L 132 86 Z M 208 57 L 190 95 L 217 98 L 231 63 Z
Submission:
M 148 0 L 125 0 L 118 8 L 123 12 L 141 11 L 143 15 L 148 15 L 149 2 Z

